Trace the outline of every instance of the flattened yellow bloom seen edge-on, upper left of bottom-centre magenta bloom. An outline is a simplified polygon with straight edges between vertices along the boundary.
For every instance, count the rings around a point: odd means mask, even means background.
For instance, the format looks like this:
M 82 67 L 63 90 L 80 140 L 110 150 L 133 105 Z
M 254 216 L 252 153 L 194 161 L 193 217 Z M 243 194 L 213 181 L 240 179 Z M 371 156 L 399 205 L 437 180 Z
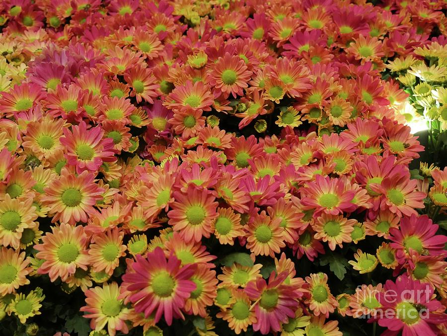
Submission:
M 235 289 L 244 288 L 250 281 L 262 277 L 259 271 L 262 264 L 254 264 L 253 266 L 243 266 L 237 262 L 231 266 L 222 267 L 223 274 L 218 275 L 218 279 L 222 281 L 222 285 L 227 285 Z

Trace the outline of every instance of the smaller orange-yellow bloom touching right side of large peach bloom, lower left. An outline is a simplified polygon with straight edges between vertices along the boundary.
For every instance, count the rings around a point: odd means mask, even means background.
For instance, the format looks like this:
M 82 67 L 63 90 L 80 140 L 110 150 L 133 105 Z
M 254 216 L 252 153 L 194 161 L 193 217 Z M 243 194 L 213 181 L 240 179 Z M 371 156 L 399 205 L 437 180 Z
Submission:
M 105 271 L 112 275 L 120 262 L 120 257 L 126 255 L 123 237 L 124 232 L 120 232 L 118 228 L 94 236 L 94 244 L 90 244 L 88 254 L 89 263 L 95 272 Z

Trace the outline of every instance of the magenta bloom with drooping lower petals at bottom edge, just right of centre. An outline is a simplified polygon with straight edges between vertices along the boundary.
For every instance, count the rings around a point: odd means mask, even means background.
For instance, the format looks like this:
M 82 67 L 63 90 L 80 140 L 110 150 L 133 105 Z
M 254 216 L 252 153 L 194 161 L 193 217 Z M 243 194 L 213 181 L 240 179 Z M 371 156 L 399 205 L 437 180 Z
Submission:
M 281 323 L 287 323 L 289 318 L 295 317 L 298 293 L 294 291 L 293 286 L 285 283 L 287 275 L 287 272 L 278 275 L 272 272 L 268 283 L 263 278 L 258 278 L 256 281 L 250 281 L 245 287 L 245 293 L 255 302 L 254 331 L 260 331 L 264 335 L 278 332 L 281 330 Z

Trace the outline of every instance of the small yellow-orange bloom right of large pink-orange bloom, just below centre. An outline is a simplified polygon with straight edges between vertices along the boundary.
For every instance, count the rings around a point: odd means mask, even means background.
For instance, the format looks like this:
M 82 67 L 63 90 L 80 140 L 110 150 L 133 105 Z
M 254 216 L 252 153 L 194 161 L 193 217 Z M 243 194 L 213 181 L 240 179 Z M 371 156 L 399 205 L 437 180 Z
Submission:
M 240 215 L 231 208 L 218 208 L 218 217 L 212 222 L 211 230 L 222 245 L 234 244 L 234 239 L 244 235 L 240 224 Z

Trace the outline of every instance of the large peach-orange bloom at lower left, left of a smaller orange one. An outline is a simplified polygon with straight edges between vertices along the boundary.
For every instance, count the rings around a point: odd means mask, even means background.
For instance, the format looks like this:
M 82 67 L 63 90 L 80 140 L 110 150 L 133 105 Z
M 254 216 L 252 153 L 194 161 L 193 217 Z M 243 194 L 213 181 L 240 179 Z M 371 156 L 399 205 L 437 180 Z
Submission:
M 39 274 L 48 274 L 52 282 L 61 277 L 65 281 L 74 274 L 76 267 L 87 269 L 88 253 L 87 238 L 82 226 L 61 224 L 52 227 L 52 233 L 47 232 L 42 237 L 42 244 L 34 246 L 36 257 L 45 260 L 39 267 Z

